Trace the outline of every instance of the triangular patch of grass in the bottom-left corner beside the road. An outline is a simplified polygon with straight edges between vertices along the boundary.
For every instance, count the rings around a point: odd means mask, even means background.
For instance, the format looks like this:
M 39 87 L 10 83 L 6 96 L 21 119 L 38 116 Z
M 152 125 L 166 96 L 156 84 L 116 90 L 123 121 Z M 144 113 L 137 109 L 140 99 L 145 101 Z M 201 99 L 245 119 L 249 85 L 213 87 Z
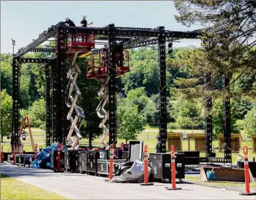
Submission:
M 67 199 L 54 192 L 1 174 L 1 199 Z

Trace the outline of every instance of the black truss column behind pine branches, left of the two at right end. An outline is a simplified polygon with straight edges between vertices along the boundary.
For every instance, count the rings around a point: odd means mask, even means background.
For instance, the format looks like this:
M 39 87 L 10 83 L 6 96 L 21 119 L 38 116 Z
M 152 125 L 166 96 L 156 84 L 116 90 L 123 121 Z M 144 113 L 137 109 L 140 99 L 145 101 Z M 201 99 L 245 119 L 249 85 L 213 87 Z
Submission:
M 205 90 L 211 90 L 211 73 L 205 73 Z M 212 116 L 209 112 L 212 110 L 211 96 L 205 97 L 205 156 L 212 157 Z

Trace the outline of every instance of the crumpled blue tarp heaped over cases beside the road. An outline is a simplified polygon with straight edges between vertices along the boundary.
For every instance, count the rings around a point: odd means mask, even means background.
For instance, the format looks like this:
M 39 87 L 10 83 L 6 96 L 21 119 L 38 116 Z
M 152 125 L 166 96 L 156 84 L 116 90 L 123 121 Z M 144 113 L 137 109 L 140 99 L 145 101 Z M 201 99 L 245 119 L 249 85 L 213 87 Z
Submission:
M 31 163 L 32 168 L 50 168 L 51 166 L 51 150 L 57 150 L 57 143 L 51 144 L 50 147 L 42 149 L 36 155 L 35 161 Z

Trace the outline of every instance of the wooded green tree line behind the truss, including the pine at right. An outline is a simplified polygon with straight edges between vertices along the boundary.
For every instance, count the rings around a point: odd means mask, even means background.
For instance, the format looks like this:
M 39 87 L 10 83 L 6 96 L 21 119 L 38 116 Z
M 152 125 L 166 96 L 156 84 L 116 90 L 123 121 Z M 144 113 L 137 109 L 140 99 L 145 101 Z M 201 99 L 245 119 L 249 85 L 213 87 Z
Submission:
M 252 1 L 175 1 L 179 23 L 225 28 L 218 33 L 203 32 L 199 48 L 174 48 L 166 60 L 167 122 L 171 129 L 204 129 L 205 115 L 211 115 L 214 138 L 223 133 L 223 99 L 231 99 L 231 133 L 244 130 L 256 133 L 256 4 Z M 145 125 L 159 123 L 157 47 L 129 51 L 130 72 L 117 79 L 118 138 L 136 139 Z M 33 53 L 28 57 L 47 57 Z M 11 54 L 1 54 L 1 130 L 10 134 Z M 84 109 L 81 133 L 92 141 L 102 134 L 96 115 L 100 82 L 86 79 L 86 59 L 79 59 L 82 71 L 77 79 Z M 205 90 L 204 76 L 211 77 L 210 90 Z M 222 76 L 230 78 L 222 87 Z M 20 76 L 20 115 L 29 115 L 33 127 L 45 127 L 45 76 L 38 64 L 22 64 Z M 205 113 L 205 97 L 213 107 Z M 4 113 L 4 115 L 3 115 Z

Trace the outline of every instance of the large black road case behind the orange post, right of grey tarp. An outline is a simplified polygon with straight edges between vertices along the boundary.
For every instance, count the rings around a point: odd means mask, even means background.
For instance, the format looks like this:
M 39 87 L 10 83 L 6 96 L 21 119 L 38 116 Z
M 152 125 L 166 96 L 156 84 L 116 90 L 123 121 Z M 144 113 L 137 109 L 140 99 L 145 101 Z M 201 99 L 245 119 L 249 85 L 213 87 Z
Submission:
M 184 153 L 175 153 L 176 179 L 185 179 Z M 171 181 L 170 153 L 150 153 L 150 168 L 154 179 Z

